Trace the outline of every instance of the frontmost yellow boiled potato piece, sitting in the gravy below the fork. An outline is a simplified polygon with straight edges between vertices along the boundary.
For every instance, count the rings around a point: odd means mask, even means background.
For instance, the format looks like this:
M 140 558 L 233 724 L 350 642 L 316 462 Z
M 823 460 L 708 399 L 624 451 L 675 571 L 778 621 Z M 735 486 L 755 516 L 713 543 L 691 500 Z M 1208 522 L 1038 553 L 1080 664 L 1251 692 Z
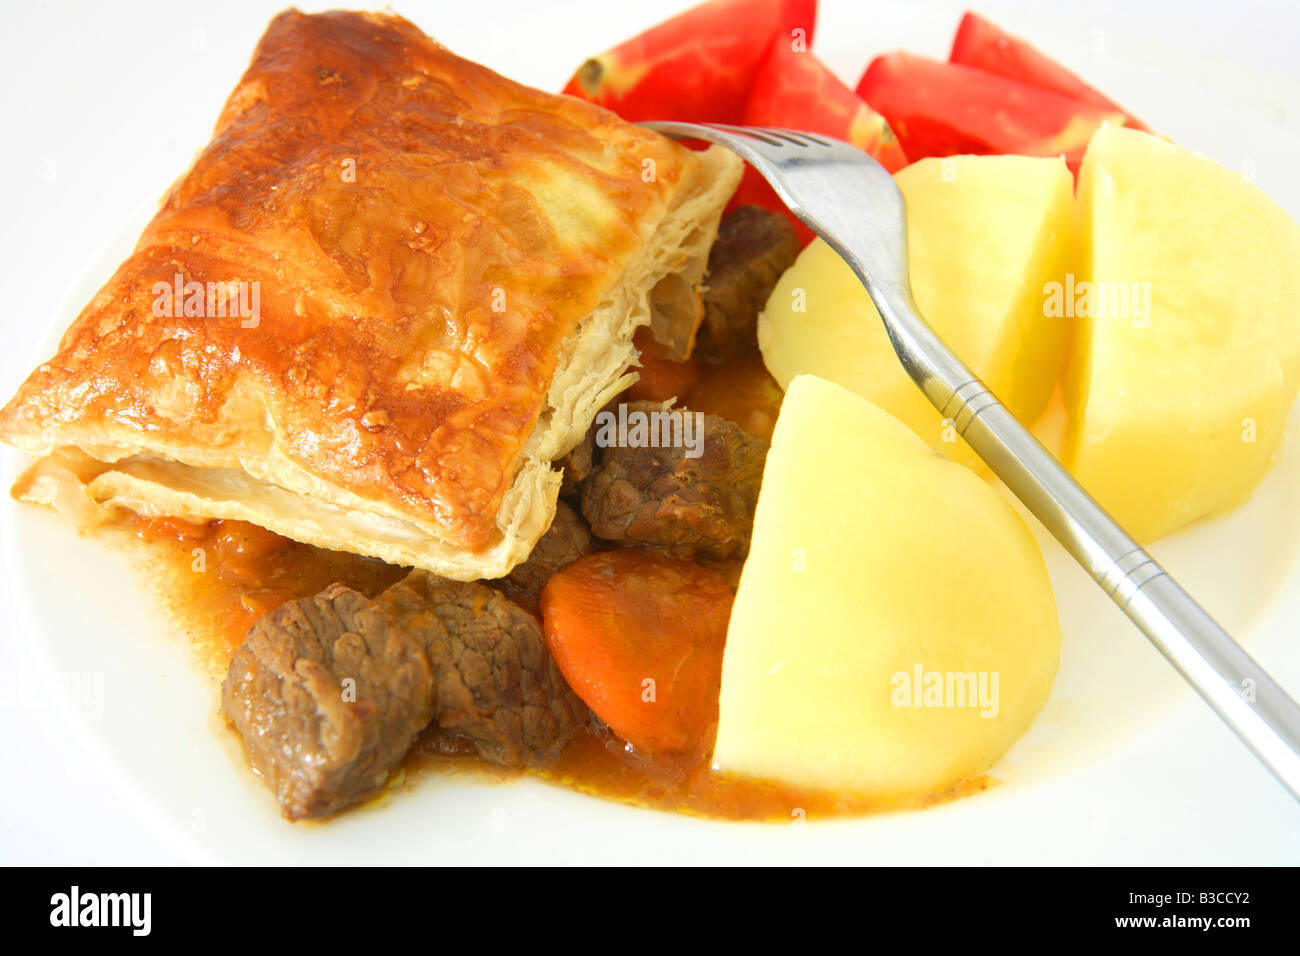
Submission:
M 715 766 L 945 791 L 1024 732 L 1060 649 L 1043 555 L 992 486 L 866 399 L 796 377 L 728 626 Z

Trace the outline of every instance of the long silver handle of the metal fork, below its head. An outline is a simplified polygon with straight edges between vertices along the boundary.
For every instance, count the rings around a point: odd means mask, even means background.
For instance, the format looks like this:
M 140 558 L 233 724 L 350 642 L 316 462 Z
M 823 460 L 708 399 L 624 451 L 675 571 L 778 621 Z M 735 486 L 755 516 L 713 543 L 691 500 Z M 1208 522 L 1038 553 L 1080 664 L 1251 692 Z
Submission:
M 881 289 L 850 265 L 926 397 L 1300 800 L 1300 706 L 953 355 L 906 285 Z

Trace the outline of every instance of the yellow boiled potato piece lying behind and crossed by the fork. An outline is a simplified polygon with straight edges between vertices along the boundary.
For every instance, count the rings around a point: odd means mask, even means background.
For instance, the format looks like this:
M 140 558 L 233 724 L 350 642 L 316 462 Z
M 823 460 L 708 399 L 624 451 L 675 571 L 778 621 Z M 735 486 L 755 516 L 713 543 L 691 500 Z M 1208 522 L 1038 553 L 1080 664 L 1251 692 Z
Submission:
M 911 287 L 922 315 L 1026 423 L 1060 377 L 1069 320 L 1044 315 L 1044 286 L 1074 256 L 1072 179 L 1058 159 L 926 159 L 896 176 L 907 200 Z M 840 382 L 942 454 L 975 453 L 904 372 L 862 284 L 818 239 L 759 317 L 758 342 L 783 386 L 810 372 Z

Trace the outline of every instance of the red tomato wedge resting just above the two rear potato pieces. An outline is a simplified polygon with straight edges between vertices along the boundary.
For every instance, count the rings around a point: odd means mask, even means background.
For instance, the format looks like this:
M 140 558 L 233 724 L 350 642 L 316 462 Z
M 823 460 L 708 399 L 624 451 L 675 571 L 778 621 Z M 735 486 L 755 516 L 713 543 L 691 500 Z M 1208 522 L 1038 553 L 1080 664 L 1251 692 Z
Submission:
M 957 153 L 1065 156 L 1078 172 L 1092 134 L 1124 113 L 961 64 L 878 56 L 858 95 L 880 112 L 911 160 Z

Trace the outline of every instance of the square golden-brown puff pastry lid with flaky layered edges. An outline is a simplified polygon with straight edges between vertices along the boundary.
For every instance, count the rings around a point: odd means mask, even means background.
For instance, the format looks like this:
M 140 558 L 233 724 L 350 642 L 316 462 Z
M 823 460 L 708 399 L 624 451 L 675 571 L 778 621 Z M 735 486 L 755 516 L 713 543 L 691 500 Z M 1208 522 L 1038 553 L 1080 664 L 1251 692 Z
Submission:
M 698 316 L 738 176 L 400 17 L 282 13 L 0 412 L 40 455 L 14 493 L 504 575 L 550 524 L 552 459 L 628 384 L 636 326 Z

